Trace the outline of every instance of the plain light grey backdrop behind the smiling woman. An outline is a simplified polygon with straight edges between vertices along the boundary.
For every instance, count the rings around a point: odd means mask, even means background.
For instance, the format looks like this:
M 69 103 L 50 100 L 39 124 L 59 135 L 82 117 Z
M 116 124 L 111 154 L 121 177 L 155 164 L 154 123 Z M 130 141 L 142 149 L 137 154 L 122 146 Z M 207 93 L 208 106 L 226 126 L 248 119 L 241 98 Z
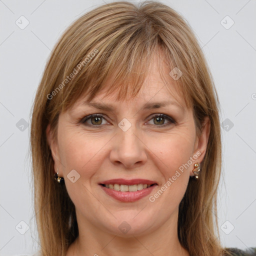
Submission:
M 32 101 L 46 60 L 73 20 L 107 2 L 110 1 L 0 0 L 0 255 L 38 249 L 29 125 Z M 219 95 L 223 174 L 218 228 L 222 245 L 255 247 L 256 2 L 161 2 L 173 7 L 191 25 Z

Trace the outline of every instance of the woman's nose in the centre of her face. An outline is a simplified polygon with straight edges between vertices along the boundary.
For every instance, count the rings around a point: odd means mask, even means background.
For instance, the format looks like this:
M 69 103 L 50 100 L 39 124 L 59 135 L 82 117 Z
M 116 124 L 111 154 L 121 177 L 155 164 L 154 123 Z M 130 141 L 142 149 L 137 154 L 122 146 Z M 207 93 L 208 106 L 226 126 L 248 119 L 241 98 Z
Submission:
M 134 168 L 145 163 L 147 154 L 143 138 L 139 136 L 135 125 L 123 131 L 119 127 L 112 140 L 110 161 L 115 165 L 123 165 L 124 168 Z

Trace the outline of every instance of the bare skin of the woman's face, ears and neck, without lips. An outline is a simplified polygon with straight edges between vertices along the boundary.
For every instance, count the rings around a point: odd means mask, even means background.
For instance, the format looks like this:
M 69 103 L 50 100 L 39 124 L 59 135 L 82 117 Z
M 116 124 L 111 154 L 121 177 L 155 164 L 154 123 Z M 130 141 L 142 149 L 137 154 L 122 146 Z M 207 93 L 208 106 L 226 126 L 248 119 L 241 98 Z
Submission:
M 113 111 L 86 106 L 82 104 L 86 98 L 81 97 L 73 108 L 60 113 L 57 138 L 53 139 L 50 125 L 47 127 L 55 172 L 58 168 L 58 175 L 64 177 L 77 216 L 79 236 L 69 246 L 67 256 L 189 255 L 178 241 L 178 205 L 189 176 L 194 175 L 193 164 L 200 163 L 205 155 L 209 121 L 205 119 L 197 136 L 192 109 L 186 108 L 177 94 L 175 81 L 168 75 L 170 70 L 164 63 L 160 66 L 168 77 L 168 85 L 164 86 L 155 61 L 135 98 L 117 101 L 115 95 L 104 97 L 102 90 L 93 101 L 113 104 Z M 108 85 L 111 79 L 106 81 Z M 182 104 L 184 108 L 168 105 L 142 109 L 146 102 L 164 100 Z M 103 114 L 98 122 L 101 126 L 95 127 L 95 118 L 88 119 L 87 126 L 80 122 L 95 113 Z M 160 113 L 173 118 L 175 123 L 164 118 L 157 124 L 157 116 L 153 115 Z M 123 118 L 131 124 L 127 131 L 118 127 Z M 155 201 L 149 201 L 149 196 L 196 152 L 200 156 Z M 74 183 L 67 178 L 72 169 L 80 175 Z M 145 178 L 155 180 L 158 185 L 138 201 L 120 202 L 98 185 L 111 178 Z M 125 234 L 118 228 L 123 221 L 131 227 Z

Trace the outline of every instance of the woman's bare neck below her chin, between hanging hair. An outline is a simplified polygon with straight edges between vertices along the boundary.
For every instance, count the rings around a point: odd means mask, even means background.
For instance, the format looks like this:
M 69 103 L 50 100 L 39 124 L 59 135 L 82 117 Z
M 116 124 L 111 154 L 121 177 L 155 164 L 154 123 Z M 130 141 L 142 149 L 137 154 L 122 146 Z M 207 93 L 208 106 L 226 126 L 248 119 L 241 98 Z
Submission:
M 120 237 L 98 229 L 90 222 L 78 221 L 79 235 L 68 247 L 66 256 L 189 256 L 178 240 L 177 212 L 154 232 Z M 79 225 L 80 224 L 80 225 Z

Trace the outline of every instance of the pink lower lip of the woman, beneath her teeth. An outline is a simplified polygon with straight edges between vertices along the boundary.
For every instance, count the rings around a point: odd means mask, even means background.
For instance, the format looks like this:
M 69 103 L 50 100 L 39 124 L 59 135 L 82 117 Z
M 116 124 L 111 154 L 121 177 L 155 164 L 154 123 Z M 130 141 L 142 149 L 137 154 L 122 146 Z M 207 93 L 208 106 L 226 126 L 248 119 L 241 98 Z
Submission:
M 133 181 L 133 182 L 135 182 L 135 181 Z M 104 183 L 104 184 L 108 184 L 108 183 Z M 112 183 L 109 183 L 109 184 L 112 184 Z M 124 184 L 124 183 L 121 183 L 121 184 Z M 133 184 L 135 184 L 135 183 L 133 183 Z M 138 184 L 141 184 L 141 183 L 138 183 Z M 114 189 L 107 188 L 107 187 L 102 186 L 100 184 L 99 184 L 99 186 L 103 189 L 103 191 L 107 195 L 112 196 L 114 199 L 117 199 L 117 200 L 122 201 L 122 202 L 134 202 L 134 201 L 137 201 L 137 200 L 145 197 L 146 195 L 148 195 L 157 185 L 154 184 L 154 185 L 149 186 L 147 188 L 144 188 L 142 190 L 133 191 L 133 192 L 130 192 L 130 191 L 125 191 L 125 192 L 116 191 Z

